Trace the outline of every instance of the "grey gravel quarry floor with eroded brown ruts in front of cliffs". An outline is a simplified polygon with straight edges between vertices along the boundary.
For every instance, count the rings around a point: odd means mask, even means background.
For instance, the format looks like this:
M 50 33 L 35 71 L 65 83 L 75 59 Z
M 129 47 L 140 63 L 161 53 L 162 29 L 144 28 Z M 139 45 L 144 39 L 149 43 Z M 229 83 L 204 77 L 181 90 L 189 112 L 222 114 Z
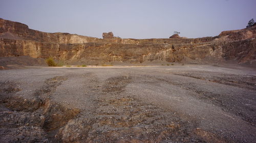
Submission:
M 0 71 L 0 142 L 255 142 L 256 70 Z

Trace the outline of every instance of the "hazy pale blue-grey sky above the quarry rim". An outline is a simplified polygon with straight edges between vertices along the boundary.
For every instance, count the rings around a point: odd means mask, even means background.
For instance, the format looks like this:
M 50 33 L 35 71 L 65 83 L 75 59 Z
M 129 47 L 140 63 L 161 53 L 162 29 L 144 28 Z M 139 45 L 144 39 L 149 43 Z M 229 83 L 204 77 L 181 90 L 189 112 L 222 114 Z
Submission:
M 0 0 L 0 18 L 42 32 L 102 38 L 217 36 L 256 21 L 256 0 Z

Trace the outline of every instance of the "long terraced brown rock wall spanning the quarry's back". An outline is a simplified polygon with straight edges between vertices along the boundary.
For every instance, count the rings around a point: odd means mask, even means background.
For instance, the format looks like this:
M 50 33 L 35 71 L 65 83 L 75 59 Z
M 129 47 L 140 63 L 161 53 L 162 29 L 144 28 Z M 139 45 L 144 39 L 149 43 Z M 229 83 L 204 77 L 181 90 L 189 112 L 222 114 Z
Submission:
M 180 62 L 185 58 L 237 60 L 255 57 L 255 27 L 196 39 L 98 39 L 68 33 L 44 33 L 0 19 L 0 56 L 29 55 L 86 64 L 105 62 Z

